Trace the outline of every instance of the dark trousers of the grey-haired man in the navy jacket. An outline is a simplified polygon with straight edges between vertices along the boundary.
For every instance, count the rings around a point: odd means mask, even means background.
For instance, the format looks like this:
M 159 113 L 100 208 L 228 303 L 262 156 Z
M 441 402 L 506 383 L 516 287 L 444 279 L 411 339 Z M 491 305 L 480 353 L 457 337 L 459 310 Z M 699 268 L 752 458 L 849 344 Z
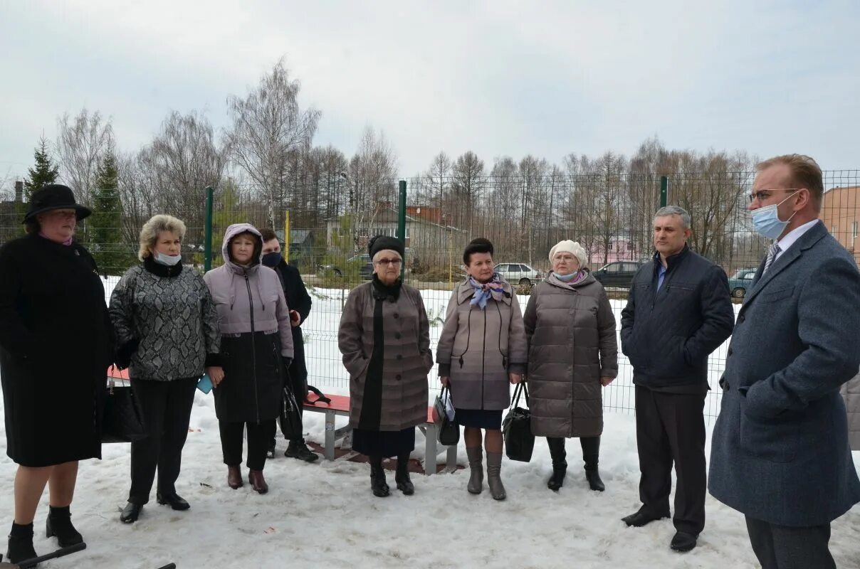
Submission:
M 692 535 L 704 529 L 704 397 L 636 386 L 636 446 L 642 473 L 639 499 L 654 516 L 669 514 L 674 463 L 677 485 L 673 523 L 678 531 Z

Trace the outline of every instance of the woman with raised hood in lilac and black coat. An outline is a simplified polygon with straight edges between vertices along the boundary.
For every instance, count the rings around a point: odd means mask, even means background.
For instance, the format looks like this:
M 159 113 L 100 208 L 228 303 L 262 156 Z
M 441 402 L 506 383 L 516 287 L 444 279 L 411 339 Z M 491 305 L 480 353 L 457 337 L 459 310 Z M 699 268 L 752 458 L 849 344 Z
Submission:
M 204 280 L 218 309 L 223 378 L 212 376 L 227 484 L 243 484 L 243 429 L 248 428 L 248 480 L 267 493 L 263 478 L 268 439 L 282 401 L 282 374 L 292 359 L 290 314 L 278 275 L 261 264 L 262 237 L 249 223 L 224 234 L 224 265 Z

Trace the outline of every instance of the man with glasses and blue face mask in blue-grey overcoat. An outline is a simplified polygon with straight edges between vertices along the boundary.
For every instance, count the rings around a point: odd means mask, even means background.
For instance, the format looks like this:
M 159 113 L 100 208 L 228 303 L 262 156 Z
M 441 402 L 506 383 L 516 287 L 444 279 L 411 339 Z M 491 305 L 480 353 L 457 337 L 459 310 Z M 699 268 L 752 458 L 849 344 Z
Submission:
M 753 227 L 774 242 L 728 349 L 709 489 L 746 516 L 763 569 L 826 569 L 830 523 L 860 502 L 839 396 L 860 365 L 860 272 L 818 219 L 812 158 L 757 170 Z

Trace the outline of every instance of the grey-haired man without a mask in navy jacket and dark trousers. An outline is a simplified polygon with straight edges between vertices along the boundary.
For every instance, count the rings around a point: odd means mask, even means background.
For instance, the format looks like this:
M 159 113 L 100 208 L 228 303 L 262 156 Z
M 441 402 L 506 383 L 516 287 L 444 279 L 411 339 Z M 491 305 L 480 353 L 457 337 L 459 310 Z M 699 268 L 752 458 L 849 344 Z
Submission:
M 642 507 L 624 517 L 641 527 L 669 517 L 674 462 L 676 529 L 670 547 L 690 551 L 704 528 L 704 399 L 708 356 L 732 333 L 726 273 L 692 252 L 690 214 L 654 215 L 654 262 L 642 266 L 621 317 L 621 349 L 636 385 L 636 445 Z

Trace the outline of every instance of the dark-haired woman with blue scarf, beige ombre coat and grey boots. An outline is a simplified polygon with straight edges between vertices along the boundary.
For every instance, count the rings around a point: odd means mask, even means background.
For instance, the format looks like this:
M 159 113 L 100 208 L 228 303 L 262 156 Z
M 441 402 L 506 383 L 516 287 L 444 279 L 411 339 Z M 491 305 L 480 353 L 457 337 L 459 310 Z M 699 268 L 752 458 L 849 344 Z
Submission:
M 525 370 L 523 316 L 511 285 L 493 265 L 493 243 L 473 239 L 463 253 L 469 278 L 451 293 L 436 359 L 439 380 L 451 388 L 455 420 L 464 426 L 470 478 L 466 489 L 483 488 L 481 430 L 486 431 L 487 482 L 494 499 L 506 498 L 501 483 L 501 413 L 510 404 L 508 382 Z

